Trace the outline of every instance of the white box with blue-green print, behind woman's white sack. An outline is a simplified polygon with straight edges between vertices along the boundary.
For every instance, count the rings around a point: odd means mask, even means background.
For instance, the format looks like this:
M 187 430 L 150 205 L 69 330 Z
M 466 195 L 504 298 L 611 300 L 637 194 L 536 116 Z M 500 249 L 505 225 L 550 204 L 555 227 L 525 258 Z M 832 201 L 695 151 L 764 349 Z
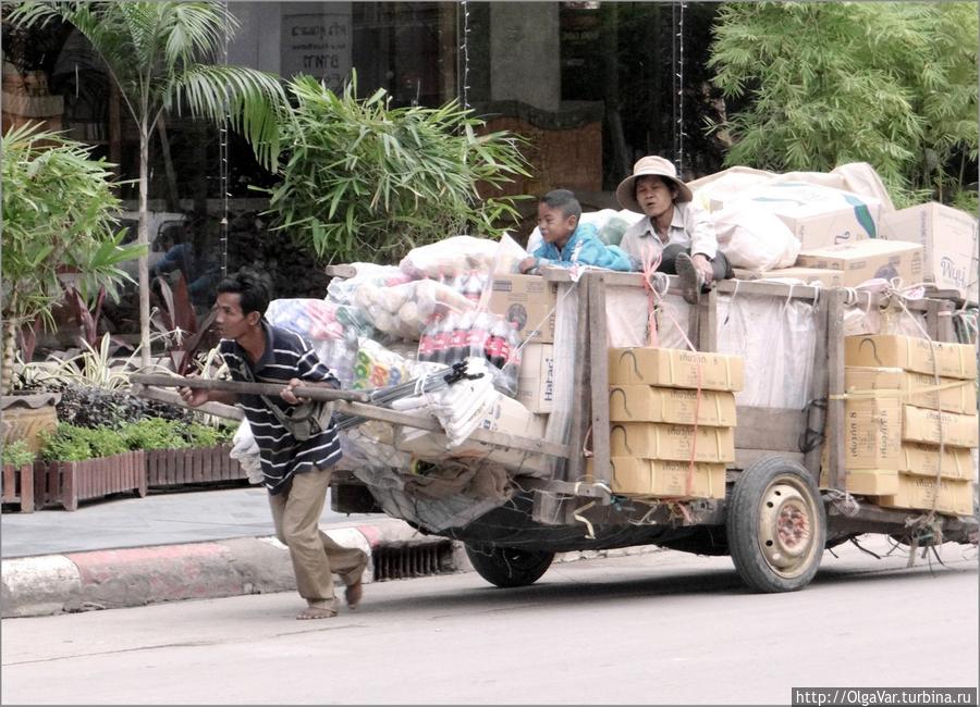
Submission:
M 804 250 L 878 237 L 881 201 L 843 189 L 785 182 L 750 189 L 732 201 L 777 215 Z M 711 211 L 725 206 L 719 199 L 710 202 Z

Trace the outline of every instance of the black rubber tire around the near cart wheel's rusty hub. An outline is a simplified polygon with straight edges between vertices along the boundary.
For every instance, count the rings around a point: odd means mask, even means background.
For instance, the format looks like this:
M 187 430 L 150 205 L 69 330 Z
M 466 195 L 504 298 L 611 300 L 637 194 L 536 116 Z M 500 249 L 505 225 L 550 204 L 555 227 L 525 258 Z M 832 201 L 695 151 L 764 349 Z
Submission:
M 777 480 L 799 492 L 810 513 L 810 544 L 803 567 L 783 572 L 774 567 L 762 549 L 759 531 L 763 495 Z M 763 593 L 801 590 L 817 574 L 826 543 L 826 516 L 813 476 L 800 464 L 782 457 L 760 459 L 742 472 L 727 501 L 725 530 L 728 551 L 742 580 Z

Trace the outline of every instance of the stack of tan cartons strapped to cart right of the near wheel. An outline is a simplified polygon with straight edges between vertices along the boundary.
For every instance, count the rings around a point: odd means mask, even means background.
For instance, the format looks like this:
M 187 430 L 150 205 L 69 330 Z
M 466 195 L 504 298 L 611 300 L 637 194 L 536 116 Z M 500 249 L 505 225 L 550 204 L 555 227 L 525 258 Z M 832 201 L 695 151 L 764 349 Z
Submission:
M 844 361 L 846 489 L 880 506 L 929 510 L 939 471 L 936 510 L 971 514 L 975 348 L 908 336 L 848 336 Z M 825 472 L 821 483 L 829 483 Z

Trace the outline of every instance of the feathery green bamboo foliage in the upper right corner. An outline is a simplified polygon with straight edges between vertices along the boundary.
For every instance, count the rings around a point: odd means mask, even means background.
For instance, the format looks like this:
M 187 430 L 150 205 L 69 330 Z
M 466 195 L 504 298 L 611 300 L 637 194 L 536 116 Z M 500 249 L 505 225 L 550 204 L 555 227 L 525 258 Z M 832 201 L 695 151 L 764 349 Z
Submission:
M 869 162 L 898 204 L 952 201 L 977 160 L 972 3 L 726 3 L 710 65 L 727 99 L 726 164 Z

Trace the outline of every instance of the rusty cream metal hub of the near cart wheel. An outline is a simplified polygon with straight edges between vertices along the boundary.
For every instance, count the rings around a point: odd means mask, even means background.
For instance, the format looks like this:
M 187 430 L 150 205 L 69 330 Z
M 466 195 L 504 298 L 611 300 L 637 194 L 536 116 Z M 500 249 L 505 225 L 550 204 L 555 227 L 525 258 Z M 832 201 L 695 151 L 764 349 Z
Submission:
M 806 498 L 793 485 L 776 481 L 765 489 L 759 513 L 759 545 L 767 562 L 783 574 L 801 571 L 813 545 Z

